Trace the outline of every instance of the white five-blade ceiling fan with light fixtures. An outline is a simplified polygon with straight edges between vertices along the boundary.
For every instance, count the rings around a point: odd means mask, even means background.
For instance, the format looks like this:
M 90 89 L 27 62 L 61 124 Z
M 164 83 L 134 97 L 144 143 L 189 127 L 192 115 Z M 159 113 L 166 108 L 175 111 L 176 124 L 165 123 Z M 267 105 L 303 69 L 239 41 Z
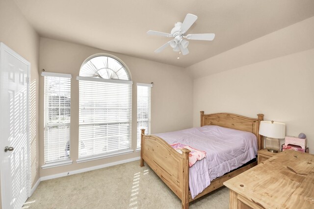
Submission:
M 165 37 L 173 37 L 174 39 L 168 41 L 166 44 L 160 46 L 155 50 L 156 53 L 162 51 L 167 46 L 171 46 L 174 51 L 181 51 L 183 55 L 189 53 L 188 51 L 188 40 L 204 40 L 204 41 L 212 41 L 215 38 L 214 33 L 200 33 L 200 34 L 188 34 L 185 35 L 186 31 L 192 26 L 193 23 L 197 20 L 196 15 L 187 14 L 184 18 L 183 23 L 178 22 L 175 23 L 175 27 L 172 28 L 170 33 L 163 33 L 154 30 L 147 31 L 148 35 L 157 35 L 157 36 L 165 36 Z

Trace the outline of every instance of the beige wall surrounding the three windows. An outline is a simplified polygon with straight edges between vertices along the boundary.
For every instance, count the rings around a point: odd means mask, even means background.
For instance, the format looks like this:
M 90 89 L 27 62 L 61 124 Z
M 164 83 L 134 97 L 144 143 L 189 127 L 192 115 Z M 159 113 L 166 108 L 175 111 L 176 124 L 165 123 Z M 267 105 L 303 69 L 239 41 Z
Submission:
M 136 50 L 136 49 L 135 49 Z M 57 168 L 40 169 L 40 176 L 111 163 L 139 156 L 139 152 L 105 158 L 86 163 L 78 159 L 78 81 L 76 76 L 83 61 L 95 53 L 110 53 L 126 63 L 131 71 L 132 88 L 132 144 L 136 143 L 136 83 L 154 82 L 152 89 L 152 133 L 189 128 L 192 126 L 192 79 L 179 67 L 134 58 L 127 55 L 106 52 L 100 49 L 40 39 L 40 69 L 50 72 L 71 73 L 71 159 L 73 164 Z M 40 165 L 44 164 L 44 79 L 40 78 Z

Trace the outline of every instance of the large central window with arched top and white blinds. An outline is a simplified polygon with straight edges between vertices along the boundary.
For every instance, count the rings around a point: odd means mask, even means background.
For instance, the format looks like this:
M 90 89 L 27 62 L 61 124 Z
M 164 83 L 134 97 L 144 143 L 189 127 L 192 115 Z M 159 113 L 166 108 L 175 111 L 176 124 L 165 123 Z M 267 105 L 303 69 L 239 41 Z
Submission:
M 119 58 L 96 54 L 79 76 L 78 162 L 131 152 L 132 81 Z

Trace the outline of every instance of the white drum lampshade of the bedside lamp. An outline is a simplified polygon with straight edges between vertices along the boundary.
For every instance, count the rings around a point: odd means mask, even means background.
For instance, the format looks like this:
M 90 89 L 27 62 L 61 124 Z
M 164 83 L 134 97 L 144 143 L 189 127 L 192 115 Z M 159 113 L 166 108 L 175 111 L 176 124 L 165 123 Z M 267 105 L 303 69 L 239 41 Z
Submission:
M 274 121 L 261 121 L 259 134 L 264 137 L 284 139 L 286 137 L 286 124 Z

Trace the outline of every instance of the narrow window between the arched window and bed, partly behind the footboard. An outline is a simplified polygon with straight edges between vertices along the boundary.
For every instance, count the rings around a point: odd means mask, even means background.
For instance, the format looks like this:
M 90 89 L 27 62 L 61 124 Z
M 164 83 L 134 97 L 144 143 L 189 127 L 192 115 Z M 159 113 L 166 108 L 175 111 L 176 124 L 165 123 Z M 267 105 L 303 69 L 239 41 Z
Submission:
M 151 134 L 151 88 L 152 84 L 137 83 L 137 149 L 141 148 L 141 129 Z

